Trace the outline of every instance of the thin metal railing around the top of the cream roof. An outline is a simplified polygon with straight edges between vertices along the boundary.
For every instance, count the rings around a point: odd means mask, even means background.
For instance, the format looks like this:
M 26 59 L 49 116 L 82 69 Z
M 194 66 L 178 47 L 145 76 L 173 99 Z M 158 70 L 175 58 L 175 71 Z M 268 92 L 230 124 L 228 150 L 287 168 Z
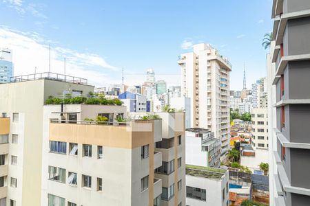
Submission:
M 85 78 L 79 78 L 75 76 L 68 76 L 52 72 L 32 73 L 23 76 L 13 76 L 10 78 L 10 82 L 26 82 L 32 80 L 56 80 L 60 82 L 69 82 L 75 84 L 87 84 L 87 79 Z

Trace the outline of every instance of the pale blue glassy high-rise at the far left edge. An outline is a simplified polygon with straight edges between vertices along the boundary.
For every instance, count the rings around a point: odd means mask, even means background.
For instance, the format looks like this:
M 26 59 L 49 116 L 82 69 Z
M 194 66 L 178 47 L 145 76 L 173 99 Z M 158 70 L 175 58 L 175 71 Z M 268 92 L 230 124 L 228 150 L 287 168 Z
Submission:
M 0 48 L 0 84 L 10 82 L 12 76 L 12 50 Z

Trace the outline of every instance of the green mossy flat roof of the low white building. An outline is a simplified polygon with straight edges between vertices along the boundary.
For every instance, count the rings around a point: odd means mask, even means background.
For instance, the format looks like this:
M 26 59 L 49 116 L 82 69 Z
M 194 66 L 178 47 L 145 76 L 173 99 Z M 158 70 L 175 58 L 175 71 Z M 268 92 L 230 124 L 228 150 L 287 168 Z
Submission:
M 219 168 L 207 168 L 197 165 L 186 165 L 186 174 L 190 176 L 198 176 L 207 179 L 223 179 L 226 174 L 226 170 Z

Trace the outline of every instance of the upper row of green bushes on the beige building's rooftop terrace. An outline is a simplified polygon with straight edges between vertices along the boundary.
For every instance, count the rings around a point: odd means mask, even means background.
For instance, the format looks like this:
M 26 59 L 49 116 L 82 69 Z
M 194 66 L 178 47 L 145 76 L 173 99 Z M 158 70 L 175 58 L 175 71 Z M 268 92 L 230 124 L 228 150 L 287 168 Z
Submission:
M 63 98 L 48 97 L 45 104 L 96 104 L 96 105 L 115 105 L 121 106 L 123 102 L 117 98 L 107 99 L 104 95 L 88 95 L 87 97 L 72 97 L 72 95 L 64 95 Z

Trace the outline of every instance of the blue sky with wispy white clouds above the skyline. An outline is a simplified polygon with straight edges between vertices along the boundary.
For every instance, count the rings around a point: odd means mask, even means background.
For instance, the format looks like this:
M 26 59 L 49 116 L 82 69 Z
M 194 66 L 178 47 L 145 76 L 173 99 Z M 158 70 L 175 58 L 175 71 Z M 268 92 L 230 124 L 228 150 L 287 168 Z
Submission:
M 229 58 L 233 65 L 231 89 L 242 89 L 244 62 L 247 87 L 266 75 L 267 51 L 261 42 L 271 31 L 271 0 L 0 0 L 0 13 L 0 47 L 17 50 L 13 51 L 15 75 L 37 67 L 36 62 L 29 62 L 29 66 L 21 62 L 19 54 L 29 52 L 17 45 L 17 38 L 25 38 L 28 49 L 34 47 L 32 56 L 39 45 L 46 49 L 51 43 L 57 67 L 54 71 L 61 71 L 58 67 L 65 56 L 68 74 L 88 73 L 98 86 L 120 83 L 122 67 L 128 84 L 143 82 L 147 68 L 155 69 L 158 80 L 179 84 L 178 55 L 203 42 Z M 42 64 L 40 70 L 47 71 Z M 79 68 L 74 64 L 80 64 Z M 21 65 L 25 69 L 17 68 Z M 78 70 L 81 72 L 75 72 Z

